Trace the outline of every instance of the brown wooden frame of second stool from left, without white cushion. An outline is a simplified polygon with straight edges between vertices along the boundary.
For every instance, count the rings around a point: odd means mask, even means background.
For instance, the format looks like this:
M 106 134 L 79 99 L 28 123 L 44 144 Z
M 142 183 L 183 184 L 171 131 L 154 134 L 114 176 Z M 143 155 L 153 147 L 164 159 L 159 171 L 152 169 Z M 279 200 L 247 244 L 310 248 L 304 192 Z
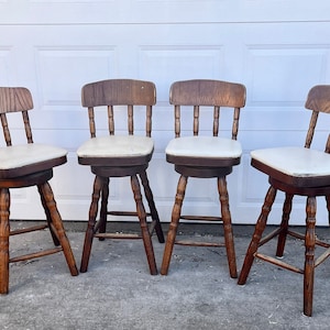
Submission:
M 134 108 L 143 106 L 145 108 L 145 136 L 151 136 L 152 132 L 152 107 L 156 102 L 155 85 L 151 81 L 133 79 L 109 79 L 85 85 L 81 90 L 82 107 L 88 108 L 90 138 L 97 136 L 95 120 L 95 108 L 106 107 L 108 114 L 109 134 L 116 134 L 114 107 L 127 106 L 128 135 L 134 134 Z M 111 145 L 109 145 L 111 147 Z M 85 244 L 81 256 L 80 272 L 87 272 L 91 244 L 94 238 L 105 239 L 142 239 L 145 254 L 152 275 L 157 274 L 156 261 L 152 244 L 152 233 L 156 232 L 158 241 L 164 242 L 164 234 L 160 217 L 154 202 L 152 189 L 146 175 L 148 162 L 152 153 L 132 157 L 78 157 L 81 165 L 90 165 L 91 172 L 96 175 L 94 184 L 92 200 L 89 210 L 89 221 L 85 235 Z M 116 211 L 108 209 L 109 184 L 111 177 L 131 177 L 131 188 L 136 205 L 136 211 Z M 141 184 L 144 196 L 147 200 L 150 212 L 145 211 Z M 100 201 L 100 220 L 97 221 Z M 141 235 L 117 234 L 107 232 L 108 216 L 133 216 L 138 217 L 141 226 Z M 146 217 L 151 216 L 152 223 L 148 228 Z

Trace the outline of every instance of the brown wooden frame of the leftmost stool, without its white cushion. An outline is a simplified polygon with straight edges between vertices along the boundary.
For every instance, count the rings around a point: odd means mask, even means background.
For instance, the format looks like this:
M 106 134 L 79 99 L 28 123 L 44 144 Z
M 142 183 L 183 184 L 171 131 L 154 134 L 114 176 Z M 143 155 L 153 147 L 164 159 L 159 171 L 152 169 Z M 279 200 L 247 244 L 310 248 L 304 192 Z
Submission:
M 31 92 L 26 88 L 0 87 L 0 118 L 7 146 L 12 145 L 7 114 L 22 112 L 28 143 L 33 143 L 28 111 L 33 108 Z M 31 163 L 18 168 L 0 169 L 0 294 L 9 292 L 9 263 L 41 257 L 63 251 L 72 275 L 78 275 L 74 254 L 66 237 L 54 195 L 48 180 L 53 177 L 53 167 L 64 164 L 66 156 L 47 162 Z M 47 222 L 45 226 L 23 230 L 10 230 L 10 189 L 36 186 L 41 196 Z M 56 248 L 10 257 L 10 235 L 23 234 L 48 228 Z

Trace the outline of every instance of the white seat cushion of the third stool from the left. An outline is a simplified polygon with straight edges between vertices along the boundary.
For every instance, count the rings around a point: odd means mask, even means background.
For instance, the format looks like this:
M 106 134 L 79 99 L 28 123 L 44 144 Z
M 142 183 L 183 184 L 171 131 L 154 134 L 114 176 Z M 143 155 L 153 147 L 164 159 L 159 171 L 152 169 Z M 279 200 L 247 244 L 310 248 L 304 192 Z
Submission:
M 169 141 L 167 155 L 200 158 L 238 158 L 242 155 L 239 141 L 217 136 L 184 136 Z

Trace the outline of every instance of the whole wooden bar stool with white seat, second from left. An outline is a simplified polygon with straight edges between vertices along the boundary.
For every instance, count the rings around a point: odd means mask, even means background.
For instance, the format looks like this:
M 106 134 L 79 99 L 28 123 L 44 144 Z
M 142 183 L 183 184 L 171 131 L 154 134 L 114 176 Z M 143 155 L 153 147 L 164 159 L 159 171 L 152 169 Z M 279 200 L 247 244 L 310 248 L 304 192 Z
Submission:
M 91 244 L 95 237 L 103 239 L 143 239 L 145 253 L 152 275 L 157 274 L 156 261 L 152 244 L 152 233 L 156 232 L 158 241 L 164 242 L 164 234 L 160 217 L 154 202 L 152 189 L 146 175 L 146 168 L 152 158 L 154 142 L 152 131 L 152 107 L 156 102 L 155 85 L 150 81 L 133 79 L 109 79 L 91 82 L 82 87 L 82 107 L 88 108 L 90 140 L 86 141 L 77 151 L 78 162 L 89 165 L 96 175 L 92 200 L 89 210 L 89 221 L 86 230 L 82 250 L 80 272 L 87 272 Z M 120 106 L 124 106 L 125 111 Z M 95 108 L 106 107 L 108 113 L 109 134 L 96 136 Z M 118 113 L 114 112 L 114 107 Z M 142 117 L 144 108 L 145 127 L 144 135 L 134 134 L 138 117 Z M 136 111 L 134 111 L 136 110 Z M 114 134 L 114 118 L 127 112 L 128 134 Z M 143 117 L 142 117 L 143 118 Z M 117 122 L 118 122 L 117 121 Z M 135 129 L 135 130 L 134 130 Z M 108 210 L 110 177 L 130 177 L 136 211 Z M 141 194 L 141 184 L 148 204 L 150 212 L 145 211 Z M 97 213 L 100 202 L 100 220 L 97 222 Z M 107 232 L 107 216 L 138 217 L 141 226 L 141 234 L 118 234 Z M 152 218 L 148 228 L 146 217 Z

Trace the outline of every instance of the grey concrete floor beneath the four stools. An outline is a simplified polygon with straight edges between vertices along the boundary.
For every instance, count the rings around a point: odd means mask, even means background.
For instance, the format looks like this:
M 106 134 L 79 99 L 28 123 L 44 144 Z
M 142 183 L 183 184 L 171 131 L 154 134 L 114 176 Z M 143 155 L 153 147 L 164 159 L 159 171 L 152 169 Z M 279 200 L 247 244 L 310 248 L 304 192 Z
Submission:
M 79 266 L 84 231 L 66 227 Z M 234 231 L 240 271 L 252 228 Z M 11 238 L 12 255 L 40 238 L 36 246 L 52 243 L 47 232 Z M 160 267 L 164 244 L 153 242 Z M 302 256 L 301 242 L 290 240 L 288 246 L 285 257 Z M 301 275 L 257 261 L 246 285 L 239 286 L 229 276 L 223 248 L 176 245 L 169 274 L 151 276 L 142 241 L 95 240 L 89 270 L 77 277 L 62 253 L 11 264 L 10 294 L 0 296 L 0 329 L 329 329 L 329 273 L 330 263 L 317 268 L 308 318 Z

